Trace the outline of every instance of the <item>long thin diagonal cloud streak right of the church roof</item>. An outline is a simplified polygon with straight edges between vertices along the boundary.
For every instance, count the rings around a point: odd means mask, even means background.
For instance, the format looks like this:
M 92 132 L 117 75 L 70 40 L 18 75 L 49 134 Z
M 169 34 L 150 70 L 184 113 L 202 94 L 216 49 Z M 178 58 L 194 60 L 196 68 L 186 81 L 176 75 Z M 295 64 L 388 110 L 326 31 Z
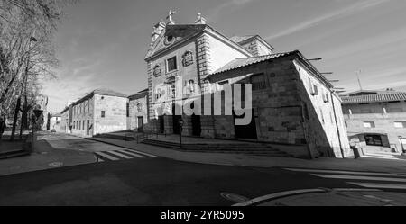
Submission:
M 384 4 L 389 2 L 390 0 L 364 0 L 362 2 L 358 2 L 356 4 L 353 4 L 349 7 L 346 7 L 344 9 L 341 10 L 337 10 L 335 12 L 332 13 L 327 13 L 321 16 L 318 16 L 316 18 L 310 19 L 308 21 L 305 22 L 300 22 L 299 24 L 292 26 L 284 31 L 280 31 L 278 33 L 272 34 L 270 36 L 268 36 L 266 39 L 267 40 L 272 40 L 272 39 L 277 39 L 277 38 L 281 38 L 287 35 L 290 35 L 292 33 L 295 33 L 297 31 L 304 31 L 306 29 L 309 29 L 311 27 L 317 26 L 318 24 L 320 24 L 321 22 L 327 22 L 327 21 L 331 21 L 333 19 L 337 19 L 337 18 L 341 18 L 341 17 L 345 17 L 347 15 L 353 14 L 353 13 L 357 13 L 359 11 L 363 11 L 367 8 L 371 8 L 374 7 L 376 5 L 379 4 Z

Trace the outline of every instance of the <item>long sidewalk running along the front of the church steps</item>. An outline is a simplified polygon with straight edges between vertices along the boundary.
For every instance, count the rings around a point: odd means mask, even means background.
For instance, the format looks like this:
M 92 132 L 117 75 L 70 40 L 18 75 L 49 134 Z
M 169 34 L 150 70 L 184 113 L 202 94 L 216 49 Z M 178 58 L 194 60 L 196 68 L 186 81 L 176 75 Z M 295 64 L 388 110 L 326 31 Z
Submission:
M 191 163 L 223 166 L 291 167 L 406 174 L 405 160 L 364 157 L 359 159 L 318 158 L 315 160 L 304 160 L 298 158 L 258 157 L 222 153 L 181 152 L 170 148 L 137 144 L 135 141 L 99 138 L 92 139 L 117 147 L 130 148 L 150 153 L 158 157 L 167 157 Z

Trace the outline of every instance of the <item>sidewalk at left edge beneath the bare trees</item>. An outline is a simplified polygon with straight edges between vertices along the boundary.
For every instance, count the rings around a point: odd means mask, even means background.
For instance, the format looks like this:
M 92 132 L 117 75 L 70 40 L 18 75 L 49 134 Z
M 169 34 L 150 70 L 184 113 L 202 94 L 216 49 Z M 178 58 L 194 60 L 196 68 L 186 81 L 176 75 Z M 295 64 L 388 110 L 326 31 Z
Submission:
M 30 156 L 0 160 L 0 176 L 95 162 L 96 157 L 92 153 L 55 149 L 47 141 L 38 140 Z

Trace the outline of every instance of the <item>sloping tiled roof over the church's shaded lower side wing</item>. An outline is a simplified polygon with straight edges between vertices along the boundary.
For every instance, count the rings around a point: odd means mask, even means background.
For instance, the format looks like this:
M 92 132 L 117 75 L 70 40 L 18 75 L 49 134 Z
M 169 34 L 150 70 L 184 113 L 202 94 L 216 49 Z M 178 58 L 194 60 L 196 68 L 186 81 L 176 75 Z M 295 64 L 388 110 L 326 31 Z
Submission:
M 279 54 L 272 54 L 272 55 L 265 55 L 265 56 L 258 56 L 258 57 L 250 57 L 250 58 L 236 58 L 235 60 L 231 61 L 230 63 L 226 64 L 224 67 L 220 67 L 215 71 L 212 75 L 218 74 L 218 73 L 223 73 L 226 71 L 231 71 L 236 68 L 240 67 L 247 67 L 254 65 L 256 63 L 260 63 L 269 59 L 274 59 L 274 58 L 281 58 L 285 56 L 289 56 L 291 54 L 295 54 L 298 51 L 291 51 L 291 52 L 286 52 L 286 53 L 279 53 Z

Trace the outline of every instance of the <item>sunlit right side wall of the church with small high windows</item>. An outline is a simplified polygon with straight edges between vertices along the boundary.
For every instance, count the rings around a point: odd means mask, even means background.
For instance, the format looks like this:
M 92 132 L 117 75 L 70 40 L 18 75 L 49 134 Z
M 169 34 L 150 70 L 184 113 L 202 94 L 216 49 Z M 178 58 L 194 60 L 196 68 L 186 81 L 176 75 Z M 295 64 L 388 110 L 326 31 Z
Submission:
M 302 101 L 304 125 L 312 157 L 349 157 L 341 101 L 318 76 L 299 61 L 294 62 L 300 76 L 298 90 Z

